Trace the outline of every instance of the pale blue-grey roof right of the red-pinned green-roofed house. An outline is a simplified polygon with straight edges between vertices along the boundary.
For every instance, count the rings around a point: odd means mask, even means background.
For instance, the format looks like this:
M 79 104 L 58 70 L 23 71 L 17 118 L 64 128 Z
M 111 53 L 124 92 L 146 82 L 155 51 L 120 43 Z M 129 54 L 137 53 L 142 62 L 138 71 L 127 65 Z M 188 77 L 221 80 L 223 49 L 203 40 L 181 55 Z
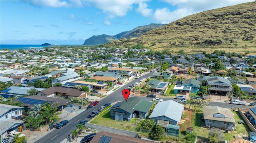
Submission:
M 149 118 L 166 116 L 174 121 L 180 122 L 184 106 L 173 100 L 158 102 Z

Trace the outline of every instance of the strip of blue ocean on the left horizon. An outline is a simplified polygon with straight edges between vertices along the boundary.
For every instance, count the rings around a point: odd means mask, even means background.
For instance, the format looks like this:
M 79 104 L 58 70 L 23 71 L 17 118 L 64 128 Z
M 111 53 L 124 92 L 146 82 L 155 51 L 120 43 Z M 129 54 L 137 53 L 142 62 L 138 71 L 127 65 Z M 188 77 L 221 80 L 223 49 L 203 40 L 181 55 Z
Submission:
M 41 49 L 44 47 L 49 47 L 49 46 L 41 46 L 41 45 L 7 45 L 7 44 L 0 44 L 0 50 L 3 49 L 9 49 L 9 50 L 19 50 L 19 49 L 23 49 L 23 50 L 27 50 L 27 49 Z

